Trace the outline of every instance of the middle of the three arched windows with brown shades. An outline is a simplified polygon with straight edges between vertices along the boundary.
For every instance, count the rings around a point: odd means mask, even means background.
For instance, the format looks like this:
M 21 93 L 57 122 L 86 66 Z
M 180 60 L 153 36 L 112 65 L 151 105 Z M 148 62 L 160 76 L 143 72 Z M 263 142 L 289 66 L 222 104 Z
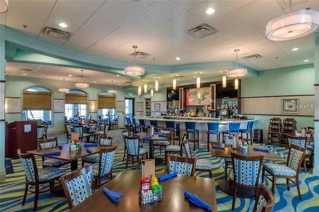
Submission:
M 79 117 L 85 119 L 88 114 L 88 95 L 81 90 L 70 90 L 65 94 L 65 116 L 77 121 Z

